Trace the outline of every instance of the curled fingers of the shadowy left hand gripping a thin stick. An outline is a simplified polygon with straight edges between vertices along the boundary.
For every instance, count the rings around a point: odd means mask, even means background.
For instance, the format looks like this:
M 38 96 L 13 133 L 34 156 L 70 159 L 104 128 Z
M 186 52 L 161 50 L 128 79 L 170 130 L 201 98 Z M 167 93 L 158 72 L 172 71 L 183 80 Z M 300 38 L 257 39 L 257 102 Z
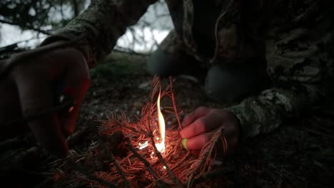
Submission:
M 18 59 L 24 61 L 20 56 Z M 38 120 L 31 120 L 29 127 L 42 147 L 65 156 L 69 150 L 65 137 L 74 132 L 79 105 L 90 85 L 86 59 L 75 48 L 64 48 L 27 61 L 31 61 L 29 66 L 28 63 L 17 66 L 11 74 L 18 88 L 22 115 L 29 117 L 44 112 Z M 59 79 L 61 85 L 71 88 L 67 94 L 76 103 L 71 113 L 61 118 L 58 115 L 63 113 L 46 113 L 54 108 L 54 99 L 58 97 L 51 83 Z

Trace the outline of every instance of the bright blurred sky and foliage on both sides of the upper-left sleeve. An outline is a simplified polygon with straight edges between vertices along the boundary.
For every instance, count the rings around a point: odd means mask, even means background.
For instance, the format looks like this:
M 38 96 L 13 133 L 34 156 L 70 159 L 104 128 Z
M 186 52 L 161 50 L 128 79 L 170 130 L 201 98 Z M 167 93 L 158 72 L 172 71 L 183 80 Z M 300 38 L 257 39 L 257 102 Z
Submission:
M 90 3 L 90 0 L 0 1 L 0 55 L 4 56 L 4 52 L 8 51 L 17 52 L 34 48 L 46 36 L 66 26 L 69 21 L 81 14 Z M 6 32 L 4 28 L 8 27 L 14 27 L 11 29 L 21 32 L 29 31 L 31 38 L 4 33 Z M 135 26 L 128 28 L 116 49 L 149 53 L 156 49 L 171 28 L 173 24 L 165 1 L 158 1 L 148 9 Z M 11 40 L 8 36 L 16 40 Z

